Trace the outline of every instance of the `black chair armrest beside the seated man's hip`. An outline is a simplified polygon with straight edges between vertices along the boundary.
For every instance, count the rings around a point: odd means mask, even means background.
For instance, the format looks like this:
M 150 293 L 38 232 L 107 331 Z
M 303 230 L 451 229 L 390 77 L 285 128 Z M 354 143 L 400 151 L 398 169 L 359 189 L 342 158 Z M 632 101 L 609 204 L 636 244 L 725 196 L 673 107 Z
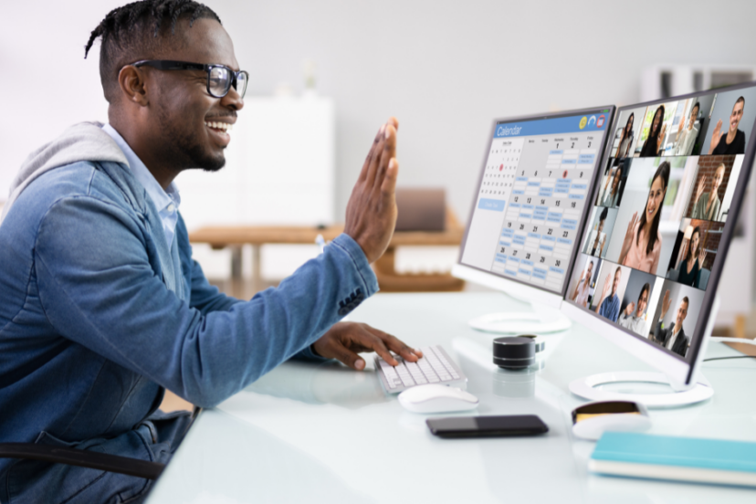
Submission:
M 121 457 L 75 448 L 37 445 L 35 443 L 0 443 L 0 458 L 41 460 L 146 479 L 157 479 L 165 468 L 165 464 L 159 462 L 148 462 L 138 458 Z

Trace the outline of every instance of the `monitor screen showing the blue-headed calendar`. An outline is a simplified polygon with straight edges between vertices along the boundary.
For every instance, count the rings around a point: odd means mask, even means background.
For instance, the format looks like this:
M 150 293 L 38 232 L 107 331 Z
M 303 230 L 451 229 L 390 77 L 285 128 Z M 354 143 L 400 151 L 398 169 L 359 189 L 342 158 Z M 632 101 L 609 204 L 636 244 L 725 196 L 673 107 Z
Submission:
M 460 264 L 562 296 L 613 111 L 496 121 Z

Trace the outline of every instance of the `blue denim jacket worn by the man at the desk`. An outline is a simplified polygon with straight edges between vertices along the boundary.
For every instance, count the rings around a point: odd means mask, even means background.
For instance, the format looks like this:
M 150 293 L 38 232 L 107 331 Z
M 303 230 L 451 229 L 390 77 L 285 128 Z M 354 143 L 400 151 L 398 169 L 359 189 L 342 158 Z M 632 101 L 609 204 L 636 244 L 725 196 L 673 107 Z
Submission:
M 218 404 L 378 288 L 346 235 L 246 302 L 209 285 L 181 218 L 174 244 L 175 291 L 160 217 L 122 163 L 69 163 L 18 195 L 0 225 L 0 442 L 122 436 L 163 388 Z M 0 500 L 14 463 L 0 459 Z

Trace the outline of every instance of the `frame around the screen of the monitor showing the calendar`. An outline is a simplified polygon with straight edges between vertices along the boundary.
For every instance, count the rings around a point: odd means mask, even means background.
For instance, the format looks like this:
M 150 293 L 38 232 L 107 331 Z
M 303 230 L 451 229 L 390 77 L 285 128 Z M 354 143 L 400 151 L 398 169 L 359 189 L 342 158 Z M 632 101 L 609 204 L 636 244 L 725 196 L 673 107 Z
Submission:
M 605 112 L 604 110 L 608 110 L 608 112 Z M 502 123 L 509 123 L 509 122 L 516 122 L 516 121 L 539 121 L 539 120 L 545 120 L 545 119 L 558 119 L 562 117 L 570 117 L 570 116 L 577 116 L 577 115 L 588 115 L 588 114 L 604 114 L 607 115 L 607 129 L 604 131 L 604 139 L 602 140 L 601 146 L 596 149 L 596 152 L 606 152 L 607 143 L 609 140 L 609 128 L 611 128 L 614 125 L 614 119 L 616 115 L 617 108 L 614 105 L 605 105 L 603 107 L 591 107 L 589 109 L 578 109 L 578 110 L 562 110 L 558 112 L 546 112 L 546 113 L 540 113 L 540 114 L 530 114 L 525 116 L 517 116 L 512 118 L 503 118 L 503 119 L 495 119 L 493 121 L 493 124 L 491 126 L 490 133 L 488 134 L 488 143 L 486 146 L 486 151 L 483 154 L 483 160 L 480 164 L 480 169 L 478 170 L 478 180 L 476 182 L 476 191 L 473 195 L 472 204 L 470 207 L 469 215 L 467 216 L 467 226 L 465 226 L 465 234 L 462 236 L 462 244 L 459 247 L 459 256 L 457 257 L 457 266 L 458 267 L 464 267 L 464 268 L 454 268 L 452 271 L 452 274 L 457 277 L 457 275 L 465 275 L 466 268 L 473 269 L 476 271 L 479 271 L 481 273 L 491 275 L 494 278 L 498 278 L 500 280 L 503 280 L 504 282 L 511 282 L 514 286 L 514 288 L 520 288 L 522 286 L 529 287 L 530 289 L 536 289 L 538 291 L 543 292 L 543 294 L 548 294 L 549 296 L 555 296 L 560 299 L 559 303 L 551 303 L 551 302 L 544 302 L 544 304 L 549 304 L 550 306 L 558 308 L 559 305 L 561 305 L 561 299 L 564 299 L 565 292 L 567 291 L 567 287 L 570 283 L 570 275 L 572 274 L 572 267 L 574 266 L 575 258 L 577 257 L 578 251 L 580 249 L 579 246 L 573 247 L 572 249 L 572 256 L 570 257 L 570 260 L 568 261 L 568 264 L 566 265 L 566 268 L 564 268 L 565 271 L 565 281 L 562 284 L 562 292 L 554 292 L 549 289 L 542 288 L 540 286 L 532 285 L 530 283 L 527 283 L 525 281 L 519 280 L 517 278 L 509 278 L 509 277 L 503 277 L 496 273 L 491 272 L 490 270 L 486 270 L 483 268 L 478 268 L 475 266 L 471 266 L 468 264 L 464 264 L 462 262 L 462 256 L 465 253 L 465 246 L 467 244 L 467 233 L 470 231 L 470 225 L 472 224 L 472 218 L 475 215 L 475 208 L 478 203 L 478 190 L 480 188 L 480 184 L 483 182 L 483 176 L 486 172 L 486 162 L 488 161 L 488 153 L 491 150 L 491 144 L 495 140 L 495 132 L 496 128 L 499 124 Z M 593 188 L 595 185 L 595 181 L 597 180 L 597 177 L 599 175 L 599 172 L 601 171 L 600 168 L 602 166 L 602 160 L 603 160 L 603 154 L 599 156 L 598 161 L 595 164 L 595 169 L 593 170 L 593 178 L 590 182 L 590 187 Z M 591 192 L 593 194 L 593 192 Z M 590 202 L 591 200 L 586 200 Z M 590 214 L 591 205 L 585 205 L 583 207 L 583 215 L 581 215 L 578 229 L 583 229 L 583 226 L 585 226 L 585 221 L 588 218 L 588 215 Z M 581 234 L 582 236 L 582 234 Z M 577 245 L 577 244 L 576 244 Z M 471 271 L 467 271 L 467 273 L 471 273 Z M 463 277 L 458 277 L 463 278 Z M 469 279 L 470 281 L 479 281 L 476 279 L 478 276 L 468 274 L 464 277 L 465 279 Z M 498 282 L 497 282 L 498 283 Z M 486 284 L 488 287 L 492 287 L 491 284 Z M 509 289 L 506 284 L 503 287 L 493 287 L 493 289 L 499 289 L 504 292 L 512 293 L 513 290 Z M 534 302 L 543 302 L 543 297 L 536 295 L 534 292 L 532 292 L 530 289 L 525 289 L 522 292 L 518 292 L 518 296 L 522 295 L 522 297 L 532 300 Z

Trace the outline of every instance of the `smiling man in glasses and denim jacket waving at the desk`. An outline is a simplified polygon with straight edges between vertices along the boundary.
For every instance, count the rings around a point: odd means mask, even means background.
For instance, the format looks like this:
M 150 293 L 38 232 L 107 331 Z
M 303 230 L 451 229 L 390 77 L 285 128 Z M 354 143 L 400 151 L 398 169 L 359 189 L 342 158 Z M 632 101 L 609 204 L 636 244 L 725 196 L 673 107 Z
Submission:
M 209 8 L 146 0 L 115 9 L 101 37 L 105 127 L 78 124 L 27 159 L 0 225 L 0 442 L 73 446 L 167 462 L 189 415 L 157 408 L 168 388 L 218 404 L 294 356 L 389 350 L 383 331 L 338 323 L 378 285 L 396 219 L 397 122 L 373 141 L 344 234 L 278 289 L 248 302 L 192 260 L 173 179 L 219 170 L 245 72 Z M 250 454 L 250 457 L 260 456 Z M 0 459 L 2 502 L 141 502 L 149 482 Z

